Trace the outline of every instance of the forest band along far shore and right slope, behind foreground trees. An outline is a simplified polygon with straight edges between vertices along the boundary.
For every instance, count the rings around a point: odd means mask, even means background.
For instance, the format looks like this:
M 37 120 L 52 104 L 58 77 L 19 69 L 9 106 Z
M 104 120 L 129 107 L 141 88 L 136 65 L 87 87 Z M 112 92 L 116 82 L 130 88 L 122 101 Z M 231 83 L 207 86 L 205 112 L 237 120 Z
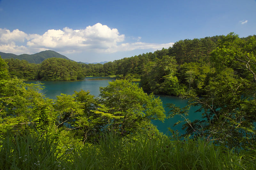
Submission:
M 236 46 L 243 45 L 250 52 L 254 36 L 239 38 Z M 233 41 L 232 40 L 232 41 Z M 227 36 L 213 36 L 193 40 L 180 40 L 168 49 L 154 53 L 126 57 L 104 64 L 82 64 L 61 58 L 49 58 L 41 64 L 25 60 L 5 59 L 12 77 L 47 81 L 77 80 L 85 76 L 116 75 L 124 78 L 140 78 L 144 91 L 155 94 L 180 95 L 190 90 L 205 94 L 204 88 L 217 75 L 213 66 L 212 51 L 227 43 Z M 246 46 L 246 47 L 245 47 Z M 230 65 L 232 67 L 232 65 Z M 248 76 L 246 67 L 232 67 L 239 77 Z M 250 71 L 249 71 L 250 72 Z M 250 75 L 250 74 L 249 74 Z

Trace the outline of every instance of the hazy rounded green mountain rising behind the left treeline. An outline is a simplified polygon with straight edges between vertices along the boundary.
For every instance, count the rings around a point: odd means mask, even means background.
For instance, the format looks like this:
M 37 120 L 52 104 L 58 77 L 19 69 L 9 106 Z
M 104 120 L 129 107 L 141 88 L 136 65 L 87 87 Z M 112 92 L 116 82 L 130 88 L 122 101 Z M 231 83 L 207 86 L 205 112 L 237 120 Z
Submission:
M 52 58 L 52 57 L 64 58 L 64 59 L 70 60 L 65 55 L 61 55 L 61 54 L 59 54 L 55 51 L 52 51 L 52 50 L 41 51 L 39 53 L 31 54 L 31 55 L 29 55 L 29 54 L 15 55 L 15 54 L 11 54 L 11 53 L 0 52 L 0 56 L 3 59 L 13 58 L 13 59 L 19 59 L 19 60 L 26 60 L 26 61 L 28 61 L 28 63 L 36 63 L 36 64 L 42 63 L 45 59 Z

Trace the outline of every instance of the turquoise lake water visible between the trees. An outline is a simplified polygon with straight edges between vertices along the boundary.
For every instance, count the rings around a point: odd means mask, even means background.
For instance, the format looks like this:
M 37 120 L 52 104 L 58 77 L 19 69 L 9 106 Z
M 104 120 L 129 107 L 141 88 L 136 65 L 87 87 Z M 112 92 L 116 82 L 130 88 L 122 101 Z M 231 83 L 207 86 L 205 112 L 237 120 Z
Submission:
M 109 81 L 114 80 L 113 78 L 102 78 L 102 77 L 87 77 L 84 80 L 80 81 L 24 81 L 24 83 L 43 83 L 44 89 L 41 91 L 46 97 L 51 99 L 56 99 L 56 96 L 59 96 L 61 93 L 64 94 L 74 94 L 74 91 L 79 92 L 81 89 L 84 91 L 89 90 L 90 94 L 94 96 L 98 96 L 100 93 L 99 87 L 106 87 Z M 187 100 L 182 100 L 178 97 L 173 96 L 161 96 L 155 95 L 159 97 L 163 106 L 165 107 L 165 111 L 168 112 L 168 108 L 166 108 L 167 103 L 174 103 L 176 106 L 185 107 L 187 105 Z M 198 108 L 193 107 L 190 109 L 190 116 L 188 117 L 191 121 L 195 119 L 200 119 L 200 113 L 194 113 Z M 182 130 L 181 123 L 175 127 L 173 124 L 178 120 L 182 120 L 180 116 L 176 115 L 174 118 L 170 118 L 165 120 L 165 122 L 153 120 L 153 124 L 157 126 L 157 129 L 163 132 L 164 134 L 168 133 L 169 130 L 167 128 L 171 128 L 173 130 L 179 130 L 180 133 L 184 133 Z

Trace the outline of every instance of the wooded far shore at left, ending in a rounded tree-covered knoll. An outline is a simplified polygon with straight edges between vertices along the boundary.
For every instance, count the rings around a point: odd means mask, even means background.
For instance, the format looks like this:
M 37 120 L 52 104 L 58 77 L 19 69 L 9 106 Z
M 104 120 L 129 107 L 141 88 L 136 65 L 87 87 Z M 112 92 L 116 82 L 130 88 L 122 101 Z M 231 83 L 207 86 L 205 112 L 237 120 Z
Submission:
M 26 60 L 4 59 L 12 78 L 27 80 L 67 81 L 85 78 L 82 64 L 63 58 L 48 58 L 41 64 L 28 63 Z

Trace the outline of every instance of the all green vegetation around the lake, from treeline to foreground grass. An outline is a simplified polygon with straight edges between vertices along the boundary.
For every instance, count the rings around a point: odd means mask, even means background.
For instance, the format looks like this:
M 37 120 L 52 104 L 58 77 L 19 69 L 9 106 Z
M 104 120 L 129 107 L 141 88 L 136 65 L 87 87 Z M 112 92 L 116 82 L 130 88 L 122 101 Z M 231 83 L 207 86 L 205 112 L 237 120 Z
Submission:
M 0 167 L 255 169 L 255 47 L 255 35 L 229 33 L 105 64 L 0 58 Z M 51 100 L 38 93 L 40 85 L 20 80 L 109 75 L 118 79 L 100 88 L 100 98 L 82 90 Z M 180 96 L 188 105 L 169 104 L 164 113 L 154 94 Z M 201 120 L 187 118 L 191 106 Z M 167 137 L 151 123 L 174 115 L 186 134 L 170 127 Z

